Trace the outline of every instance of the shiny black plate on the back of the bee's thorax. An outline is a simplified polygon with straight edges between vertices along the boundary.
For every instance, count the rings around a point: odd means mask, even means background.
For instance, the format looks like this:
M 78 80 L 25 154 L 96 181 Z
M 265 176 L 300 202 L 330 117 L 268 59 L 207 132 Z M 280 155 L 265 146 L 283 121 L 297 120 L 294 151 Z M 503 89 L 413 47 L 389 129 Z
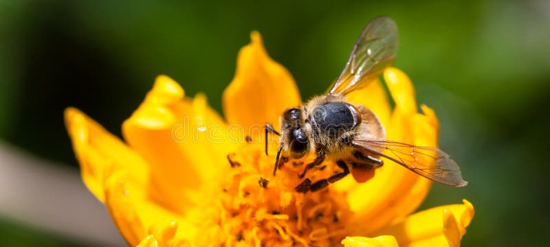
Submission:
M 337 138 L 360 124 L 357 109 L 345 102 L 328 102 L 315 108 L 311 115 L 319 132 Z

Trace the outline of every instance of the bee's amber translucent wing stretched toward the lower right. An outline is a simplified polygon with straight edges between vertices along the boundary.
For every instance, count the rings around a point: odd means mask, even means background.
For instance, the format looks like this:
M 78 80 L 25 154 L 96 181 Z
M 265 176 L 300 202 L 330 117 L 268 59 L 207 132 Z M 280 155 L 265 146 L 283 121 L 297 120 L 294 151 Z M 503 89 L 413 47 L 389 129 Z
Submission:
M 448 154 L 437 149 L 394 141 L 353 140 L 351 145 L 362 152 L 377 154 L 407 167 L 425 178 L 443 185 L 463 187 L 459 165 Z

